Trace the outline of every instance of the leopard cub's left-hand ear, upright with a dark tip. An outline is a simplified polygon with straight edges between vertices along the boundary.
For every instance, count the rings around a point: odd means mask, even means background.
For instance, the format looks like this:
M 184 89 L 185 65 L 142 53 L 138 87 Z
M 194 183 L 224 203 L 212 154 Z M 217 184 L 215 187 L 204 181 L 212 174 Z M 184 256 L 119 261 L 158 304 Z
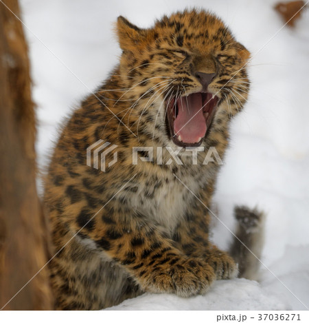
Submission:
M 120 48 L 130 52 L 141 48 L 147 37 L 147 30 L 138 28 L 122 16 L 117 19 L 116 32 Z

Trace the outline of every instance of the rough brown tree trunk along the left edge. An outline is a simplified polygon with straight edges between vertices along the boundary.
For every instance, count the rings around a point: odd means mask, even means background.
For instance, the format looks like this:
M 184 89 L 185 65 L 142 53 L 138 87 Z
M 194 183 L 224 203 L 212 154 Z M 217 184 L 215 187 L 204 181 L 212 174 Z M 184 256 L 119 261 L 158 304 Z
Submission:
M 20 17 L 17 0 L 3 3 Z M 27 44 L 21 22 L 3 3 L 0 2 L 0 309 L 47 310 L 53 306 L 52 292 L 47 267 L 40 269 L 49 259 L 49 233 L 36 191 L 36 123 Z

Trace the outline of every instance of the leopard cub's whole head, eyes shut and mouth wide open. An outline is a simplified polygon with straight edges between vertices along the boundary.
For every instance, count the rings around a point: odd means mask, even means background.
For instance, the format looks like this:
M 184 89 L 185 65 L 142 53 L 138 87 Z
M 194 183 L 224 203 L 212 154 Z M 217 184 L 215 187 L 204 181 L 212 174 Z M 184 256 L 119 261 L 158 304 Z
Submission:
M 217 121 L 242 109 L 249 52 L 213 14 L 177 12 L 151 29 L 119 17 L 117 35 L 139 132 L 165 145 L 199 146 Z

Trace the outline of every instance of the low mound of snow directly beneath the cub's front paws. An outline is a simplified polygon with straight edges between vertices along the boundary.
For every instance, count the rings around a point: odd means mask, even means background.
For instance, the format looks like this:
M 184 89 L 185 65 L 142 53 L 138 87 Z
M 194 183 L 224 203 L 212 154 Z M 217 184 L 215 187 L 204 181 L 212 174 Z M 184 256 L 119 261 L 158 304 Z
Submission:
M 237 288 L 236 288 L 237 287 Z M 218 300 L 223 299 L 224 304 Z M 237 300 L 237 302 L 236 302 Z M 155 304 L 155 306 L 154 306 Z M 224 305 L 224 307 L 222 307 Z M 156 309 L 159 311 L 253 311 L 262 308 L 264 311 L 284 310 L 286 304 L 278 301 L 260 288 L 258 282 L 245 280 L 218 281 L 214 284 L 207 296 L 198 295 L 193 298 L 179 298 L 176 295 L 144 294 L 137 299 L 125 300 L 111 310 Z

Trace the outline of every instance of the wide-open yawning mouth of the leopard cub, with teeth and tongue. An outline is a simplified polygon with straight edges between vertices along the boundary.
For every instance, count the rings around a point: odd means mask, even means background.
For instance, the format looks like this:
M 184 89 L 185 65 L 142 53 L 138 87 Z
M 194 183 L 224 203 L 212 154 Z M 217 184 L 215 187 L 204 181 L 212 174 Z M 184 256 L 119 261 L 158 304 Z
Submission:
M 198 147 L 207 135 L 218 106 L 218 96 L 197 92 L 168 102 L 168 125 L 173 142 Z

